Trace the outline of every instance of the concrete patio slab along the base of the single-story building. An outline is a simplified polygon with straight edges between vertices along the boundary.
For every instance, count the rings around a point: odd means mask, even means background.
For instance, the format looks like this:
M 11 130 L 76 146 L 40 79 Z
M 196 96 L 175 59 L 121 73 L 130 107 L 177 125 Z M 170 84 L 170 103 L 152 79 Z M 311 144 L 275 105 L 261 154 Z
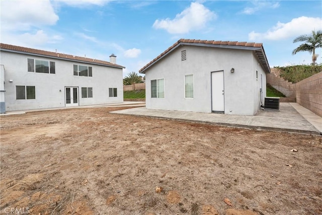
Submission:
M 305 119 L 290 103 L 280 103 L 279 111 L 260 110 L 255 116 L 153 110 L 146 109 L 145 107 L 113 111 L 111 113 L 274 130 L 281 132 L 315 135 L 320 135 L 321 132 L 307 119 Z M 315 121 L 319 120 L 321 122 L 321 117 L 315 115 L 313 118 Z

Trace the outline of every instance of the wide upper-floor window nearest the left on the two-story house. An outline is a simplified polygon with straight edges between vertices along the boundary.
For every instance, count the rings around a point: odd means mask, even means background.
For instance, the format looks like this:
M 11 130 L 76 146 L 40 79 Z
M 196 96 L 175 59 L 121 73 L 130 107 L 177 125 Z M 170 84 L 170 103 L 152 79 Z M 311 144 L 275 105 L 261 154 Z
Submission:
M 28 71 L 32 73 L 55 74 L 55 62 L 28 58 Z

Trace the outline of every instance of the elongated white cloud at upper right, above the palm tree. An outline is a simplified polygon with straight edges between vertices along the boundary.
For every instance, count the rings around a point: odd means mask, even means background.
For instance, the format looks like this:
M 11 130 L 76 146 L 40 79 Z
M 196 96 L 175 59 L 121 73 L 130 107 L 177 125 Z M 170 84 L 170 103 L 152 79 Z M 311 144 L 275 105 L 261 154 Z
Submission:
M 302 34 L 309 34 L 312 30 L 322 29 L 322 19 L 313 17 L 299 17 L 288 23 L 278 22 L 273 28 L 265 33 L 252 31 L 248 34 L 250 41 L 260 40 L 281 40 L 297 37 Z

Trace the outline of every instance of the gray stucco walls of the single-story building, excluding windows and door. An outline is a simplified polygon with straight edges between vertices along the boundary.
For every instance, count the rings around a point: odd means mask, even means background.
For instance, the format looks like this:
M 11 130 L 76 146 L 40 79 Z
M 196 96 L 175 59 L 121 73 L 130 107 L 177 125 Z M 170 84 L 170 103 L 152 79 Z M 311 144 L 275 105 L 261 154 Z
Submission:
M 187 50 L 187 60 L 181 61 L 181 51 Z M 211 72 L 224 71 L 224 113 L 254 115 L 260 108 L 257 59 L 250 50 L 209 48 L 182 45 L 145 72 L 146 108 L 210 113 Z M 230 73 L 231 68 L 235 69 Z M 185 98 L 184 77 L 194 76 L 194 98 Z M 259 75 L 260 76 L 260 75 Z M 165 98 L 151 98 L 151 80 L 165 79 Z M 265 84 L 264 84 L 265 83 Z

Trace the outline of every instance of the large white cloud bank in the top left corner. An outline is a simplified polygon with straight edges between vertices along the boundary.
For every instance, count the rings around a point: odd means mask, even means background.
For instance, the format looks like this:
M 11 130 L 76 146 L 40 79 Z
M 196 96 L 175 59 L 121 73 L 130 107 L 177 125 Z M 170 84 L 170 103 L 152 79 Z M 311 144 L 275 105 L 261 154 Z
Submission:
M 63 39 L 56 33 L 41 30 L 55 25 L 59 19 L 49 0 L 1 0 L 0 16 L 4 43 L 30 47 Z

